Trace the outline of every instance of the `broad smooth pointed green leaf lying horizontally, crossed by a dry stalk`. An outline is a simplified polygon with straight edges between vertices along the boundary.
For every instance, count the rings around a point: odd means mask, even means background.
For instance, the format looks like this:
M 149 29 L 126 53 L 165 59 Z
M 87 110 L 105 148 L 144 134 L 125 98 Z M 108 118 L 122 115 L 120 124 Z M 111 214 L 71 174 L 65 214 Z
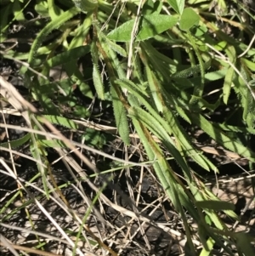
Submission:
M 173 27 L 178 22 L 178 19 L 173 16 L 163 14 L 144 15 L 139 22 L 139 31 L 136 36 L 136 41 L 143 41 L 161 34 L 163 31 Z M 111 31 L 107 37 L 111 40 L 119 42 L 128 42 L 131 40 L 133 31 L 134 19 L 128 20 L 122 26 Z

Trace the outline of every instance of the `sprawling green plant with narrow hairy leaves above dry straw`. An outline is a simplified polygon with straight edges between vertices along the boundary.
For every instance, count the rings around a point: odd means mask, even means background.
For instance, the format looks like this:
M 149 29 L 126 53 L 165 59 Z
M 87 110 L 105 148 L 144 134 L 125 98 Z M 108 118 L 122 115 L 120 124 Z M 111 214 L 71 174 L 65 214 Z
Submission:
M 6 39 L 7 28 L 14 20 L 25 22 L 22 14 L 31 1 L 14 3 L 15 10 L 3 3 L 6 17 L 12 15 L 13 18 L 9 23 L 4 21 L 1 42 Z M 198 223 L 203 245 L 200 255 L 209 255 L 214 244 L 234 255 L 231 242 L 238 247 L 239 253 L 252 255 L 247 245 L 241 245 L 245 235 L 230 232 L 218 217 L 218 211 L 222 210 L 236 218 L 232 206 L 218 202 L 189 164 L 192 159 L 204 170 L 218 173 L 216 165 L 193 143 L 185 126 L 199 128 L 217 145 L 250 162 L 255 161 L 255 153 L 241 142 L 241 134 L 255 132 L 255 95 L 252 91 L 255 50 L 241 39 L 244 35 L 252 38 L 255 31 L 251 26 L 243 26 L 241 21 L 230 20 L 225 1 L 215 1 L 215 4 L 217 14 L 210 12 L 207 1 L 127 1 L 126 5 L 111 0 L 37 1 L 37 14 L 48 22 L 43 19 L 35 22 L 34 25 L 42 26 L 42 30 L 31 50 L 17 53 L 10 49 L 3 56 L 27 61 L 32 70 L 41 74 L 38 77 L 26 65 L 20 71 L 26 78 L 31 98 L 39 101 L 46 114 L 35 118 L 31 114 L 31 128 L 40 129 L 46 118 L 50 123 L 78 130 L 71 118 L 85 118 L 91 113 L 78 104 L 74 90 L 79 88 L 90 99 L 96 92 L 99 100 L 112 105 L 122 142 L 130 145 L 130 127 L 138 134 L 157 178 L 183 219 L 191 254 L 196 255 L 197 250 L 186 210 Z M 239 4 L 237 6 L 244 9 Z M 248 11 L 247 14 L 254 22 L 252 14 Z M 218 15 L 225 24 L 235 22 L 234 25 L 242 29 L 234 31 L 238 40 L 218 28 Z M 49 36 L 54 33 L 57 37 L 50 40 Z M 83 61 L 82 69 L 80 60 Z M 88 65 L 84 64 L 86 61 Z M 59 65 L 67 78 L 48 82 L 50 71 Z M 223 86 L 218 87 L 213 98 L 210 97 L 210 82 L 217 81 L 223 81 Z M 57 105 L 68 105 L 73 110 L 70 117 Z M 208 118 L 213 111 L 225 106 L 241 112 L 242 118 L 234 124 L 231 118 L 225 118 L 223 123 Z M 88 139 L 92 139 L 92 134 L 93 131 L 87 134 Z M 70 146 L 60 138 L 49 141 L 35 135 L 33 140 L 30 136 L 27 134 L 2 146 L 22 145 L 31 139 L 31 152 L 35 158 L 42 158 L 41 162 L 47 162 L 48 146 Z M 34 151 L 35 148 L 39 151 Z M 184 181 L 174 172 L 164 151 L 173 156 Z M 47 187 L 44 175 L 45 191 Z M 222 242 L 223 238 L 226 243 Z

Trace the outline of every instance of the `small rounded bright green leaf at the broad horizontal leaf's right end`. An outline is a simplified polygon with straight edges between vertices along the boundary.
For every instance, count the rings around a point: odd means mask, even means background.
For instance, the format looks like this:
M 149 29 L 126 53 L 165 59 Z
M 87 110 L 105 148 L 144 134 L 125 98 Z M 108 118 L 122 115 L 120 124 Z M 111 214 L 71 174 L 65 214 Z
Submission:
M 198 25 L 200 17 L 191 8 L 184 9 L 179 20 L 179 28 L 183 31 L 189 31 L 192 26 Z

